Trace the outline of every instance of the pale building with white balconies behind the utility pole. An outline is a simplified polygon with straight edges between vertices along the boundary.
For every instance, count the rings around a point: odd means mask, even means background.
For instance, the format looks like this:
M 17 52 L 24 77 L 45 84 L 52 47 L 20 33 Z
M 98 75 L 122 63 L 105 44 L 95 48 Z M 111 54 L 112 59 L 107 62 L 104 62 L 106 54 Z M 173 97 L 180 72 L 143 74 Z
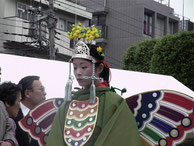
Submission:
M 53 2 L 56 59 L 67 61 L 73 52 L 67 32 L 78 21 L 88 26 L 92 13 L 74 1 Z M 1 0 L 0 8 L 0 52 L 49 58 L 49 1 Z

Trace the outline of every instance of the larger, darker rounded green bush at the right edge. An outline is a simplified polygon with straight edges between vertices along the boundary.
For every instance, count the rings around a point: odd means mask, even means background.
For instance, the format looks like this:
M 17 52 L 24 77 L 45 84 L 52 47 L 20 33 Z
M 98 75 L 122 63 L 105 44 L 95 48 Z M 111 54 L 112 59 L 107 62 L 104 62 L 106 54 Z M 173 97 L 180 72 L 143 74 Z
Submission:
M 194 32 L 168 35 L 158 41 L 150 72 L 171 75 L 194 90 Z

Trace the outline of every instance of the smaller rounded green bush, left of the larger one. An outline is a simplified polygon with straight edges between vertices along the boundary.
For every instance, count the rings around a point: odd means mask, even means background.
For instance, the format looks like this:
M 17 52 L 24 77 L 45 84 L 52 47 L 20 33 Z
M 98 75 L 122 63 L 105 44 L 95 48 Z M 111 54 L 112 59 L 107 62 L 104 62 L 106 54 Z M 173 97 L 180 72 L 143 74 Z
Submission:
M 123 56 L 123 69 L 149 72 L 156 39 L 148 39 L 128 48 Z

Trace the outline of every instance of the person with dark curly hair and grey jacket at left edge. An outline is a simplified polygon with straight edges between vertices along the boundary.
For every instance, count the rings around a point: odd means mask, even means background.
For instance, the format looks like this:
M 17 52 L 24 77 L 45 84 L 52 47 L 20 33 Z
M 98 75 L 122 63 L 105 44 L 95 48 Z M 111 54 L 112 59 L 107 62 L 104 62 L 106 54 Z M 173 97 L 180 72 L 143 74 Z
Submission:
M 15 122 L 9 117 L 16 117 L 20 108 L 21 86 L 11 82 L 0 85 L 0 145 L 18 146 L 15 138 Z

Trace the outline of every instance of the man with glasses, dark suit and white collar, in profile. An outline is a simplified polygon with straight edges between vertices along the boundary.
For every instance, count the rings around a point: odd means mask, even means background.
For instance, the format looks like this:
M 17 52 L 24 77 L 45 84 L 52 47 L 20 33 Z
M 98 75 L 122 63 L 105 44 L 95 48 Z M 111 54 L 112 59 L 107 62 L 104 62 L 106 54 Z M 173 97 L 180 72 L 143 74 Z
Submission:
M 18 116 L 14 118 L 17 125 L 16 138 L 20 146 L 38 146 L 38 142 L 20 128 L 18 121 L 46 99 L 45 88 L 39 76 L 26 76 L 19 81 L 19 84 L 22 85 L 22 100 Z

